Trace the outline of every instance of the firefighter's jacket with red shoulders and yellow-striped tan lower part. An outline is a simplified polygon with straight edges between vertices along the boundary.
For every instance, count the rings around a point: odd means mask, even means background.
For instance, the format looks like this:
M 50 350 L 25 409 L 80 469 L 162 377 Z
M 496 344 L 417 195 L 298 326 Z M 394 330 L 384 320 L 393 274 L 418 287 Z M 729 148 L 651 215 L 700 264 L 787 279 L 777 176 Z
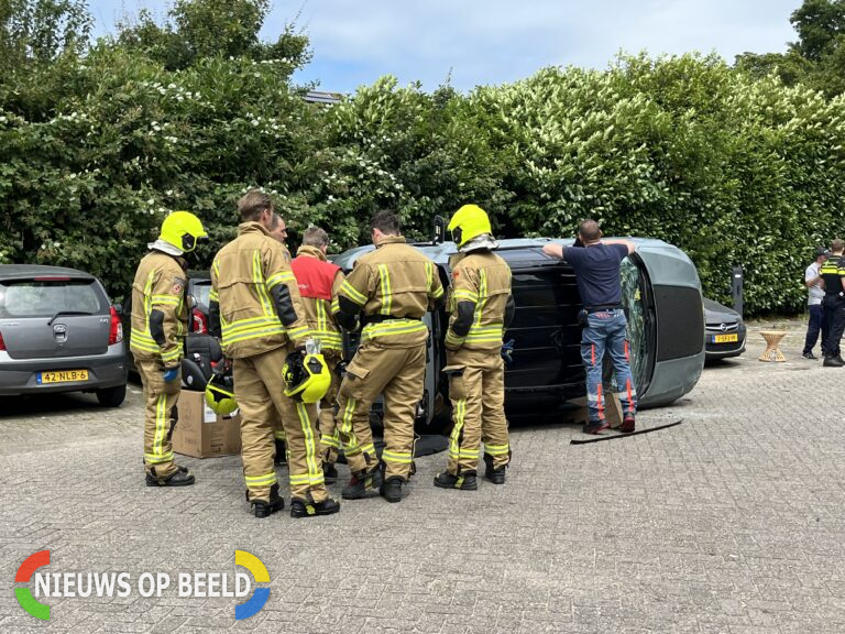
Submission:
M 340 353 L 343 341 L 331 305 L 345 280 L 343 272 L 337 264 L 328 262 L 320 249 L 307 245 L 299 247 L 290 266 L 311 335 L 320 340 L 323 352 Z M 337 308 L 337 302 L 334 304 Z

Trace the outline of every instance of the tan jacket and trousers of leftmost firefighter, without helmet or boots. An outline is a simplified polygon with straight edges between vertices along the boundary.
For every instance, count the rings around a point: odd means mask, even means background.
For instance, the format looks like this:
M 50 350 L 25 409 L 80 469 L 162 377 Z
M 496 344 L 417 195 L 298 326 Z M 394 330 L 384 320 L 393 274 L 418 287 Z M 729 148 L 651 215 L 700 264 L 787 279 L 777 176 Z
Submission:
M 176 472 L 171 435 L 176 420 L 176 402 L 182 373 L 165 382 L 165 368 L 179 367 L 188 311 L 185 302 L 187 275 L 182 261 L 161 251 L 151 251 L 138 265 L 132 283 L 130 350 L 144 387 L 144 466 L 158 478 Z M 163 315 L 162 328 L 151 331 L 153 311 Z M 156 340 L 157 338 L 157 340 Z

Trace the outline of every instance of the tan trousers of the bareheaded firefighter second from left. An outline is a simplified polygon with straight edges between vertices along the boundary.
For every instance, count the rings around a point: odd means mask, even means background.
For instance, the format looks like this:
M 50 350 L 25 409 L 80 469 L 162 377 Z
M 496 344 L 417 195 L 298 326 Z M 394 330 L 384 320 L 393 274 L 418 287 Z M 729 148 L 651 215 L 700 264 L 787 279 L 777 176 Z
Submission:
M 288 453 L 290 496 L 322 502 L 326 484 L 317 456 L 315 404 L 285 396 L 282 368 L 294 346 L 276 348 L 254 357 L 234 359 L 232 372 L 241 409 L 241 456 L 250 501 L 270 501 L 276 483 L 274 422 L 281 417 Z

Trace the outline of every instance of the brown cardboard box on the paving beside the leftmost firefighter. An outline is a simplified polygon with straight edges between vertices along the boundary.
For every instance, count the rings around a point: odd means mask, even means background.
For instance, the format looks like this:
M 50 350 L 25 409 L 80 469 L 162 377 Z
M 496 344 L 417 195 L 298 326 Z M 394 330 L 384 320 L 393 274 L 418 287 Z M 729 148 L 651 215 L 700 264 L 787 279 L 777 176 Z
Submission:
M 241 417 L 238 411 L 218 416 L 206 405 L 204 392 L 183 390 L 177 404 L 179 419 L 173 430 L 173 450 L 194 458 L 216 458 L 241 452 Z

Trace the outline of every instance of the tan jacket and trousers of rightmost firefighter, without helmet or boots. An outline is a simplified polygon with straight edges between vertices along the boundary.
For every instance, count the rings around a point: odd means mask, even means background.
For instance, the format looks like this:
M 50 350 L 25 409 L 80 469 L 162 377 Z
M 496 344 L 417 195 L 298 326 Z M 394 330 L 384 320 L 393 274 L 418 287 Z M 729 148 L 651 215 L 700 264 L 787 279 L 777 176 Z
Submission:
M 454 427 L 449 442 L 448 471 L 453 476 L 475 473 L 479 447 L 494 468 L 508 463 L 511 445 L 505 419 L 505 369 L 501 356 L 505 310 L 511 296 L 511 269 L 491 251 L 459 254 L 451 261 L 451 313 L 446 334 L 449 397 Z M 458 303 L 475 305 L 469 332 L 452 329 Z

